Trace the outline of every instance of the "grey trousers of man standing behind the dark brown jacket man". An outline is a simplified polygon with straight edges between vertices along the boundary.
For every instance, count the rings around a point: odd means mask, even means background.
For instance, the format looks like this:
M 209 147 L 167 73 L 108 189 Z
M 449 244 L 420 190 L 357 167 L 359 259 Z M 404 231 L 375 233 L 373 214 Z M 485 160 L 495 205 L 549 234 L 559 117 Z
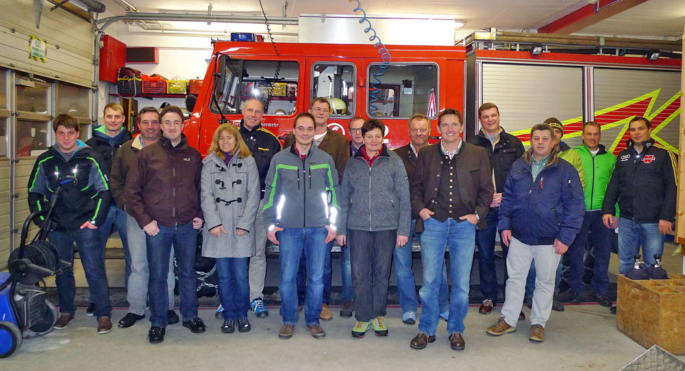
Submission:
M 126 300 L 129 302 L 129 313 L 142 316 L 147 307 L 147 285 L 150 278 L 150 270 L 147 264 L 147 242 L 145 231 L 138 227 L 138 222 L 133 216 L 126 220 L 126 233 L 128 234 L 128 249 L 131 256 L 131 274 L 128 279 L 128 291 Z M 169 277 L 166 285 L 171 287 L 169 291 L 169 309 L 174 307 L 173 287 L 176 284 L 173 273 L 173 254 L 169 259 Z

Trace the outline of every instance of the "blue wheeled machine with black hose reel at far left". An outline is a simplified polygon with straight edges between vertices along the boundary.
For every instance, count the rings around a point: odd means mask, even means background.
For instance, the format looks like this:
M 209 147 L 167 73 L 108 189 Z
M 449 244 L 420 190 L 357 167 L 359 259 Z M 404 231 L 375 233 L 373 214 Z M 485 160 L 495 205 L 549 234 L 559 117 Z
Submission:
M 62 186 L 76 183 L 75 177 L 60 180 L 60 187 L 53 193 L 47 209 L 34 212 L 25 220 L 21 229 L 21 243 L 10 254 L 10 272 L 0 272 L 0 358 L 9 357 L 24 339 L 45 335 L 53 330 L 58 311 L 45 298 L 45 277 L 69 268 L 53 244 L 47 241 L 52 225 L 52 209 Z M 34 239 L 27 244 L 32 220 L 43 218 Z M 43 287 L 39 286 L 43 283 Z

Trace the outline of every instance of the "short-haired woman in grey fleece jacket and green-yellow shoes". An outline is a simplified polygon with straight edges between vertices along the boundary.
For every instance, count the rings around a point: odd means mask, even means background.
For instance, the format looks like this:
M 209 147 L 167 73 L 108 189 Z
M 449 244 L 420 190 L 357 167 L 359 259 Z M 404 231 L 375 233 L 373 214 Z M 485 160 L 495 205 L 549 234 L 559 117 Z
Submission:
M 383 144 L 384 134 L 380 120 L 362 125 L 364 145 L 347 162 L 340 192 L 338 243 L 349 242 L 350 248 L 358 321 L 353 337 L 364 337 L 372 325 L 376 335 L 388 335 L 383 316 L 393 248 L 407 244 L 412 222 L 407 172 L 400 157 Z

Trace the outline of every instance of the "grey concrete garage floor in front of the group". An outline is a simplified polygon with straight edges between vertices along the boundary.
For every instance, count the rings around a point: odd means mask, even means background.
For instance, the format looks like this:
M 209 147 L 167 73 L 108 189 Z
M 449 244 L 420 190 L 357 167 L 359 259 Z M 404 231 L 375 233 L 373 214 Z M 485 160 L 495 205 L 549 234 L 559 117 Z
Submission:
M 524 309 L 526 314 L 530 311 Z M 337 311 L 334 311 L 336 313 Z M 114 311 L 115 320 L 125 314 Z M 352 318 L 334 317 L 324 322 L 327 336 L 316 340 L 301 322 L 290 340 L 280 340 L 277 310 L 268 318 L 250 314 L 252 331 L 223 334 L 214 310 L 200 311 L 208 324 L 203 334 L 190 333 L 175 324 L 167 329 L 162 344 L 146 340 L 149 322 L 129 329 L 114 328 L 98 335 L 96 322 L 81 309 L 66 329 L 25 340 L 12 357 L 0 360 L 0 369 L 10 370 L 618 370 L 645 349 L 616 331 L 616 317 L 599 305 L 572 305 L 552 312 L 545 342 L 527 340 L 530 322 L 519 331 L 493 337 L 485 329 L 497 320 L 495 313 L 483 316 L 471 307 L 466 316 L 466 350 L 449 348 L 445 321 L 438 338 L 424 350 L 413 350 L 409 342 L 416 326 L 401 323 L 401 309 L 388 309 L 388 337 L 353 339 Z M 582 324 L 579 326 L 579 324 Z M 685 357 L 680 357 L 685 360 Z

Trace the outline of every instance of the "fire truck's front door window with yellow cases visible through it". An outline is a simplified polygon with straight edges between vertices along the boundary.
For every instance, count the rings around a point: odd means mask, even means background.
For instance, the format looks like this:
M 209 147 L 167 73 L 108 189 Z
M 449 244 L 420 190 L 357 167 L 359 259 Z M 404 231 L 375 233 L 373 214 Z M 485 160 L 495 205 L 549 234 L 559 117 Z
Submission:
M 264 114 L 295 114 L 299 63 L 274 60 L 245 60 L 240 89 L 240 110 L 248 99 L 264 103 Z

